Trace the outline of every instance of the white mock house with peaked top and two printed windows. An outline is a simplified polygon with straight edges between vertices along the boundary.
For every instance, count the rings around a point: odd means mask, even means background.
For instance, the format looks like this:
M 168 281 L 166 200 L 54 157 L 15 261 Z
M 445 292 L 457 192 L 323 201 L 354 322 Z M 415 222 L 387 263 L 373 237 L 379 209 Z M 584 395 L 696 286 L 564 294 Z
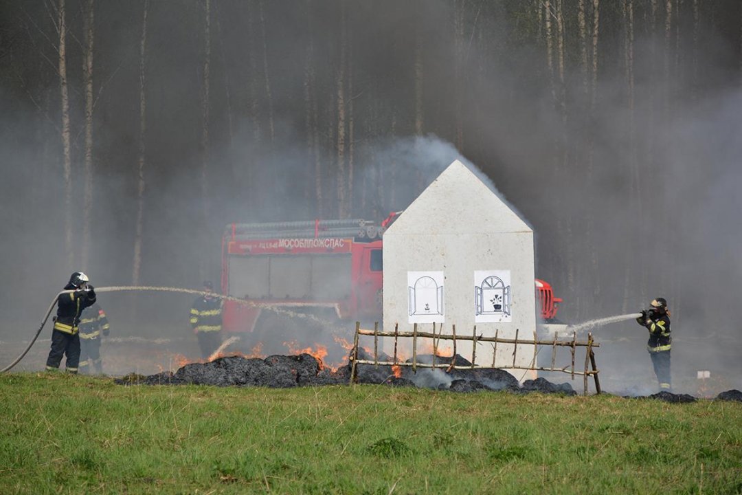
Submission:
M 533 230 L 459 160 L 451 163 L 384 232 L 384 330 L 533 340 L 536 330 Z M 439 353 L 450 344 L 440 341 Z M 393 344 L 392 344 L 393 345 Z M 401 343 L 400 343 L 401 345 Z M 411 344 L 410 344 L 411 345 Z M 387 353 L 390 341 L 384 343 Z M 418 353 L 432 347 L 418 343 Z M 470 341 L 456 353 L 471 360 Z M 407 350 L 407 358 L 410 357 Z M 513 346 L 498 344 L 496 367 L 513 365 Z M 533 346 L 519 344 L 516 366 L 528 367 Z M 480 343 L 476 364 L 493 364 Z M 519 380 L 525 370 L 509 370 Z

